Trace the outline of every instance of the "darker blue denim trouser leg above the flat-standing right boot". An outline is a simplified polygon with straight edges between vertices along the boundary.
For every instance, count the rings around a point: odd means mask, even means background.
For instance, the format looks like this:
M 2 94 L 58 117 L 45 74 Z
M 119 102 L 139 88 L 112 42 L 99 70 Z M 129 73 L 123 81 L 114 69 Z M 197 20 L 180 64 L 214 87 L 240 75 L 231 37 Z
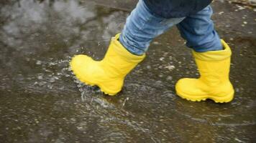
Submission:
M 187 40 L 187 46 L 198 52 L 221 50 L 219 35 L 211 21 L 211 6 L 207 6 L 197 14 L 187 16 L 177 25 L 181 36 Z

